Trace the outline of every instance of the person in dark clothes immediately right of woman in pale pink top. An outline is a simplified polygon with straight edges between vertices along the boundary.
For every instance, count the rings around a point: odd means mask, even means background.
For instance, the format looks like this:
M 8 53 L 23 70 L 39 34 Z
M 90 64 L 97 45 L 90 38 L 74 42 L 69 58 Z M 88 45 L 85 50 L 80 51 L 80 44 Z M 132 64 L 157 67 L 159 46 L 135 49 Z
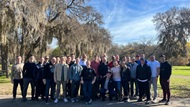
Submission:
M 123 101 L 129 102 L 129 81 L 131 78 L 131 72 L 129 67 L 127 67 L 126 62 L 121 62 L 121 84 L 124 90 Z

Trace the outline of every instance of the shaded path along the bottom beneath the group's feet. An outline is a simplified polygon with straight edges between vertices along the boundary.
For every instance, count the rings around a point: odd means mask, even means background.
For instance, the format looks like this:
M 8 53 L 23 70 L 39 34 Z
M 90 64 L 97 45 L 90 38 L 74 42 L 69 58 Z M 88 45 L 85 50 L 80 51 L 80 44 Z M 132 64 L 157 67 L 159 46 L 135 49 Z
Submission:
M 64 103 L 60 101 L 58 104 L 54 104 L 50 102 L 48 105 L 45 104 L 44 101 L 27 101 L 25 103 L 21 102 L 21 98 L 19 96 L 14 102 L 11 100 L 11 96 L 4 96 L 0 95 L 0 107 L 150 107 L 150 106 L 157 106 L 157 107 L 190 107 L 190 98 L 180 99 L 175 98 L 171 99 L 171 105 L 166 106 L 163 103 L 151 103 L 145 105 L 144 102 L 137 103 L 136 100 L 131 100 L 130 102 L 117 102 L 117 101 L 105 101 L 102 102 L 100 100 L 93 101 L 91 105 L 85 105 L 83 101 L 77 103 Z

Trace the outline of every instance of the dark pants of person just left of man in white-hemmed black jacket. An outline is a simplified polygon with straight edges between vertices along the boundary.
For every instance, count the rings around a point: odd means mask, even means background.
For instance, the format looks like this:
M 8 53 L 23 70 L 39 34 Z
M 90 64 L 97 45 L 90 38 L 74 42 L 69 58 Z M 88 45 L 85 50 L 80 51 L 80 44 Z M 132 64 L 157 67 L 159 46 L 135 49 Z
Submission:
M 131 96 L 134 95 L 134 85 L 135 85 L 135 95 L 137 96 L 139 94 L 137 79 L 132 78 L 130 83 L 131 83 Z

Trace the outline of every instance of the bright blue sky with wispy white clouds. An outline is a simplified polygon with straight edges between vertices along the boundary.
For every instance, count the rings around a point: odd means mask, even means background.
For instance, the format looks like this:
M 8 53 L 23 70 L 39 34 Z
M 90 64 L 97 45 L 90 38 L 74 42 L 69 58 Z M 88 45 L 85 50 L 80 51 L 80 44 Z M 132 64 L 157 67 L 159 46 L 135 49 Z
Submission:
M 113 43 L 119 45 L 157 41 L 153 16 L 174 6 L 190 8 L 190 0 L 91 0 L 87 4 L 103 15 L 103 27 L 111 33 Z M 53 42 L 50 46 L 55 45 Z

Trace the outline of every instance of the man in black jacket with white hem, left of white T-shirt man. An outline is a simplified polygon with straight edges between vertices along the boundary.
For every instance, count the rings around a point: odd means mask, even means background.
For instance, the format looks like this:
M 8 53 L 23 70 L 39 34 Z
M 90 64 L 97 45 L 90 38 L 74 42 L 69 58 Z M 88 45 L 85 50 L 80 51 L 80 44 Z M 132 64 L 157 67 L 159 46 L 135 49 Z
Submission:
M 150 86 L 149 81 L 151 78 L 151 70 L 150 67 L 145 63 L 145 59 L 140 59 L 141 64 L 137 66 L 136 78 L 139 85 L 139 99 L 138 102 L 142 101 L 142 97 L 146 94 L 146 103 L 148 104 L 150 101 Z

